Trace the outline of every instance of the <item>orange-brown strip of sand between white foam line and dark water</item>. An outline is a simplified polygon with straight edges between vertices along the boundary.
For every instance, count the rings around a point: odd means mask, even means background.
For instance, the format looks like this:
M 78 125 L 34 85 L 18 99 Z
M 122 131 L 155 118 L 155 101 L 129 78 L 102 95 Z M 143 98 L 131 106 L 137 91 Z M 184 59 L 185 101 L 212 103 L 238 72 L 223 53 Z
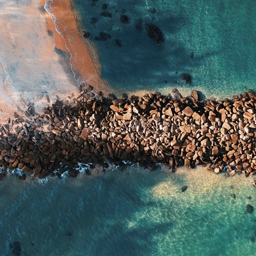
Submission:
M 101 67 L 93 49 L 94 46 L 81 36 L 79 24 L 77 24 L 78 21 L 72 8 L 72 1 L 45 1 L 44 8 L 52 19 L 56 33 L 65 42 L 65 48 L 70 54 L 70 64 L 77 84 L 91 85 L 97 91 L 102 91 L 106 95 L 110 93 L 109 84 L 100 77 Z

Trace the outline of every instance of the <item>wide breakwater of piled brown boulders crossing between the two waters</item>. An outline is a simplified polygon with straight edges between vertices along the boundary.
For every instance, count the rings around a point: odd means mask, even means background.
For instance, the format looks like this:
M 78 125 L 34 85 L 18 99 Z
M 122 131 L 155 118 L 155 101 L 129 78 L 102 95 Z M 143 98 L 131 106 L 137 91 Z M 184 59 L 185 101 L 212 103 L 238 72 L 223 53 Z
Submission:
M 77 175 L 78 164 L 124 161 L 149 170 L 156 163 L 208 170 L 227 175 L 256 173 L 256 95 L 252 91 L 232 100 L 202 100 L 148 93 L 143 97 L 102 97 L 81 88 L 70 102 L 57 100 L 42 115 L 29 107 L 26 118 L 15 114 L 0 127 L 0 179 L 19 168 L 42 179 L 48 175 Z M 90 170 L 86 172 L 90 174 Z

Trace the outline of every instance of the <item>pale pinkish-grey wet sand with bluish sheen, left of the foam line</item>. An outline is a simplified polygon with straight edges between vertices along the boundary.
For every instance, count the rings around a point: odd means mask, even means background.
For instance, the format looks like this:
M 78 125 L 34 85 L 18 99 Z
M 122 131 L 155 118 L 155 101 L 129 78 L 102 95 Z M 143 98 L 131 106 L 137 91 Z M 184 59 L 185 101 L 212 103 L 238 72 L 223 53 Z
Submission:
M 4 1 L 0 13 L 0 122 L 35 104 L 40 112 L 52 101 L 77 92 L 70 58 L 56 51 L 42 2 Z M 24 29 L 26 28 L 26 29 Z M 20 111 L 19 111 L 20 110 Z

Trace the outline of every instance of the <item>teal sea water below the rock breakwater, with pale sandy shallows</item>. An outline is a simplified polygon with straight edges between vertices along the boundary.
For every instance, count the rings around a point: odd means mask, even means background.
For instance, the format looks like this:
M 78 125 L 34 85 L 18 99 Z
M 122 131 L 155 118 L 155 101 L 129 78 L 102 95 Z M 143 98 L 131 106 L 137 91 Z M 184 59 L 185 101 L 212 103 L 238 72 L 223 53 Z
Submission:
M 250 179 L 134 166 L 100 177 L 0 186 L 0 255 L 255 255 Z M 180 187 L 188 185 L 182 193 Z M 234 198 L 234 195 L 236 198 Z M 249 200 L 248 196 L 252 196 Z

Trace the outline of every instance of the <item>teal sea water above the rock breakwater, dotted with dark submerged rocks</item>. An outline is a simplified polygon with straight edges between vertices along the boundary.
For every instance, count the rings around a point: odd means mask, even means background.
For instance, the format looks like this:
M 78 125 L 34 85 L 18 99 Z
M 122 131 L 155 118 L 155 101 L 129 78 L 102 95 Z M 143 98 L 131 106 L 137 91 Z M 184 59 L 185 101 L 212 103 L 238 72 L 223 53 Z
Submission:
M 169 93 L 175 87 L 188 93 L 193 87 L 207 97 L 225 98 L 248 89 L 256 90 L 254 1 L 73 2 L 81 15 L 81 29 L 90 32 L 92 42 L 99 48 L 102 78 L 122 92 Z M 104 3 L 108 4 L 106 10 L 102 9 Z M 150 8 L 156 12 L 148 12 Z M 120 22 L 123 9 L 129 17 L 127 24 Z M 112 18 L 100 15 L 105 11 Z M 91 24 L 92 18 L 97 19 L 95 24 Z M 139 19 L 141 30 L 135 28 Z M 148 38 L 147 23 L 161 28 L 163 44 L 157 45 Z M 101 31 L 111 38 L 95 40 Z M 122 47 L 116 46 L 116 39 L 122 41 Z M 183 72 L 193 77 L 191 87 L 180 81 Z

